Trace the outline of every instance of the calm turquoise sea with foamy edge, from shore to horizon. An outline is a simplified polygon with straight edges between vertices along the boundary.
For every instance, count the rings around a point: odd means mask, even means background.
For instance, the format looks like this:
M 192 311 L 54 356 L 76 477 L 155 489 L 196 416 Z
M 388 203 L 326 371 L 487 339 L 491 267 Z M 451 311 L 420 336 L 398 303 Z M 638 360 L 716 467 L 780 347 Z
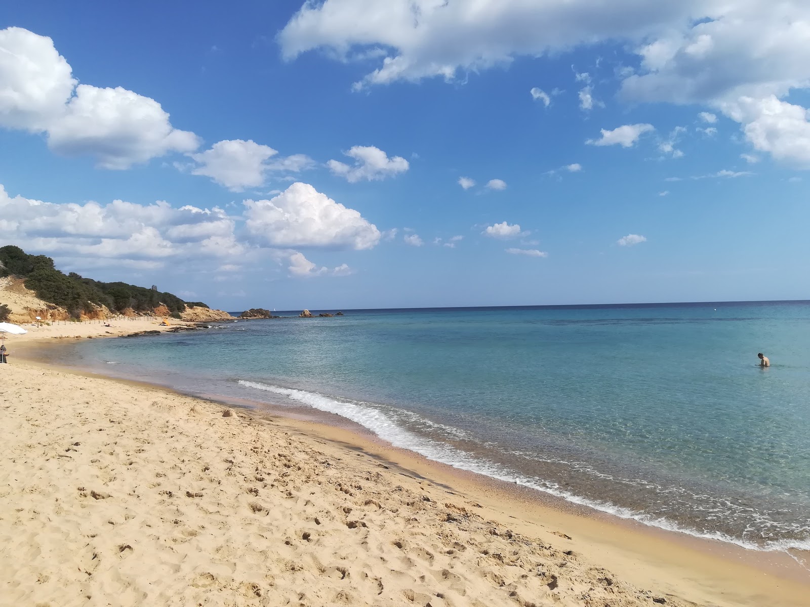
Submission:
M 646 524 L 810 550 L 807 302 L 352 311 L 58 353 L 339 414 Z

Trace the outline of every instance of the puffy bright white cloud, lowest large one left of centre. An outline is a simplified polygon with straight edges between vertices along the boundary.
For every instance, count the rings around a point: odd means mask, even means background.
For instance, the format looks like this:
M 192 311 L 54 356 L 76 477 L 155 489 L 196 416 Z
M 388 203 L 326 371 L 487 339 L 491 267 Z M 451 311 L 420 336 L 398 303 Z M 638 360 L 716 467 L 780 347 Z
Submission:
M 380 231 L 354 209 L 296 182 L 271 200 L 245 200 L 245 227 L 271 247 L 373 248 Z

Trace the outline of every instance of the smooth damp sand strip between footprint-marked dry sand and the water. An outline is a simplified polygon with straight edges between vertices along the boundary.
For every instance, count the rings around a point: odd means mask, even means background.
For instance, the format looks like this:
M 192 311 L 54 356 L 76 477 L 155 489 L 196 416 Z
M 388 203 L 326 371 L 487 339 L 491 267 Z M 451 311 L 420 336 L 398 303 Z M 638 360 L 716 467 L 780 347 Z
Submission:
M 51 342 L 49 342 L 51 343 Z M 22 357 L 20 357 L 22 358 Z M 39 369 L 53 370 L 50 365 L 26 362 Z M 118 384 L 138 387 L 172 395 L 181 395 L 163 386 L 144 384 L 134 380 L 109 379 L 107 376 L 73 368 L 60 368 L 70 376 L 99 378 Z M 190 400 L 220 407 L 222 399 L 186 397 Z M 245 400 L 245 403 L 253 401 Z M 215 403 L 215 404 L 212 404 Z M 225 401 L 228 405 L 232 402 Z M 687 601 L 711 601 L 714 605 L 802 605 L 799 597 L 810 592 L 810 572 L 786 553 L 768 553 L 744 550 L 721 541 L 704 540 L 684 533 L 653 528 L 633 520 L 603 514 L 588 507 L 578 507 L 537 490 L 512 486 L 479 473 L 454 469 L 431 461 L 416 452 L 385 444 L 370 431 L 346 423 L 340 427 L 282 417 L 283 411 L 262 413 L 242 410 L 240 415 L 272 423 L 301 433 L 309 439 L 325 439 L 364 456 L 377 458 L 384 465 L 396 468 L 400 474 L 414 475 L 433 486 L 445 487 L 453 494 L 461 493 L 465 499 L 480 503 L 487 516 L 509 524 L 518 533 L 533 533 L 548 527 L 564 529 L 563 536 L 573 537 L 577 554 L 583 554 L 600 566 L 609 567 L 621 579 L 636 584 L 663 584 L 669 596 L 681 596 Z M 518 515 L 518 516 L 516 516 Z M 584 538 L 584 539 L 582 539 Z M 735 598 L 729 591 L 736 588 Z M 778 590 L 781 589 L 781 590 Z M 778 591 L 778 592 L 777 592 Z M 774 601 L 774 592 L 781 602 Z M 766 594 L 770 598 L 765 600 Z M 757 601 L 765 601 L 757 602 Z

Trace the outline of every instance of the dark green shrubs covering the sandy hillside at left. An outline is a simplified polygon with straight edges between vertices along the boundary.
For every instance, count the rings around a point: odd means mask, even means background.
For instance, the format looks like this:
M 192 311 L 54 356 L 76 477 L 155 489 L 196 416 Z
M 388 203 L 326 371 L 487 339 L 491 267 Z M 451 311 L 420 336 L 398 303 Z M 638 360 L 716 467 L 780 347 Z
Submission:
M 179 318 L 186 306 L 177 295 L 160 293 L 155 288 L 136 287 L 126 282 L 99 282 L 75 272 L 64 274 L 53 266 L 50 257 L 28 255 L 11 245 L 0 247 L 0 277 L 9 274 L 25 278 L 25 286 L 36 292 L 37 297 L 65 308 L 74 317 L 91 312 L 93 304 L 107 306 L 112 312 L 123 312 L 127 308 L 153 312 L 163 304 L 171 316 Z M 202 302 L 188 305 L 208 307 Z

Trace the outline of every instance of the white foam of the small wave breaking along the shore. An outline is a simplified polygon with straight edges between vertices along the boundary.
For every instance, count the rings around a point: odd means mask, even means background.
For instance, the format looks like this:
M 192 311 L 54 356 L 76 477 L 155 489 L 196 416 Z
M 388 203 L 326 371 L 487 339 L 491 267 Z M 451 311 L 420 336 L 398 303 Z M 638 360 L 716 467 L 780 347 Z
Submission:
M 622 519 L 635 520 L 638 523 L 646 524 L 651 527 L 658 527 L 667 529 L 668 531 L 685 533 L 693 537 L 724 541 L 730 544 L 739 545 L 748 550 L 810 550 L 810 540 L 769 541 L 764 545 L 759 545 L 752 541 L 744 541 L 736 537 L 731 537 L 725 533 L 684 528 L 666 517 L 650 516 L 649 514 L 635 511 L 631 508 L 617 506 L 616 504 L 603 502 L 600 500 L 585 498 L 581 495 L 575 495 L 570 491 L 561 488 L 561 486 L 557 485 L 556 482 L 549 482 L 540 478 L 525 478 L 504 465 L 474 456 L 471 453 L 454 448 L 450 444 L 443 444 L 440 441 L 417 435 L 414 432 L 408 431 L 407 428 L 400 426 L 394 419 L 394 415 L 387 414 L 386 412 L 377 409 L 377 407 L 363 401 L 350 401 L 335 397 L 327 397 L 319 393 L 307 392 L 305 390 L 297 390 L 294 388 L 282 388 L 280 386 L 262 384 L 254 381 L 238 380 L 237 383 L 245 388 L 254 388 L 257 390 L 279 394 L 288 397 L 293 401 L 300 402 L 304 405 L 309 405 L 313 409 L 324 411 L 326 413 L 337 414 L 343 418 L 351 420 L 352 422 L 360 424 L 360 426 L 372 431 L 381 439 L 384 439 L 390 444 L 394 445 L 394 447 L 408 449 L 410 451 L 419 453 L 430 460 L 450 465 L 454 468 L 467 470 L 469 472 L 484 474 L 485 476 L 497 478 L 501 481 L 511 482 L 520 486 L 527 486 L 531 489 L 543 491 L 544 493 L 550 495 L 555 495 L 556 497 L 565 499 L 570 503 L 590 507 L 594 510 L 605 512 L 612 516 L 618 516 Z M 421 418 L 420 416 L 413 414 L 412 412 L 402 411 L 401 414 L 403 414 L 403 417 L 406 418 L 418 418 L 420 423 L 427 426 L 444 428 L 449 431 L 450 434 L 463 432 L 458 431 L 458 429 L 445 427 L 443 424 L 431 422 L 428 419 Z

